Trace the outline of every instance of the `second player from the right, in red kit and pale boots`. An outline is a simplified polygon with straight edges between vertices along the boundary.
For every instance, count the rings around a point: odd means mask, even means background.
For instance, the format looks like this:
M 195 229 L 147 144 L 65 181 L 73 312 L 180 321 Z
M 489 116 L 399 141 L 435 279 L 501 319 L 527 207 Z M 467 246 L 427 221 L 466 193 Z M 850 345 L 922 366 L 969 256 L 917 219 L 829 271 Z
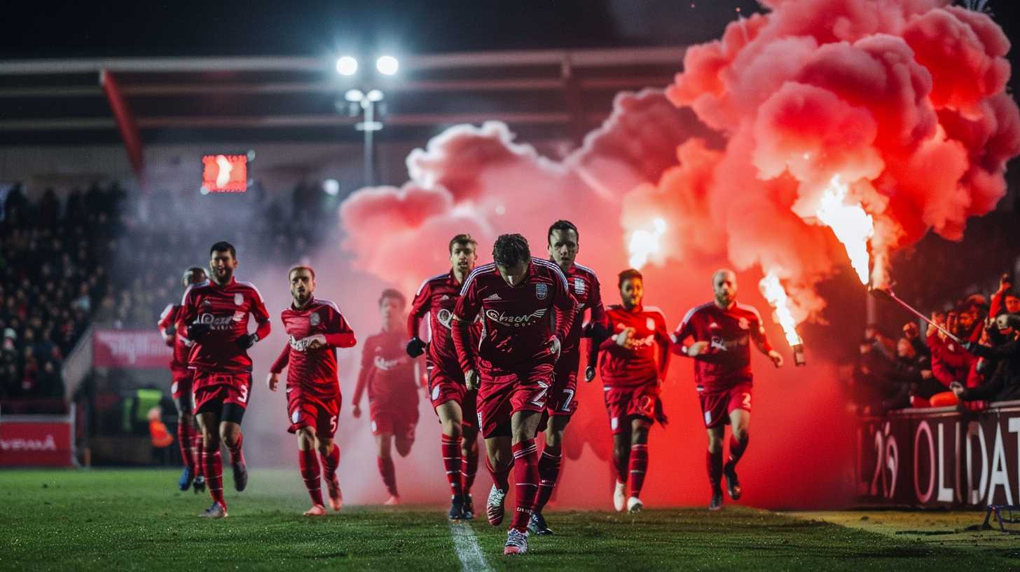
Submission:
M 613 507 L 635 513 L 645 507 L 641 490 L 648 474 L 648 431 L 655 421 L 666 423 L 659 392 L 669 366 L 669 334 L 662 311 L 643 304 L 640 272 L 621 272 L 617 285 L 622 304 L 606 312 L 610 335 L 599 345 L 599 373 L 613 432 Z

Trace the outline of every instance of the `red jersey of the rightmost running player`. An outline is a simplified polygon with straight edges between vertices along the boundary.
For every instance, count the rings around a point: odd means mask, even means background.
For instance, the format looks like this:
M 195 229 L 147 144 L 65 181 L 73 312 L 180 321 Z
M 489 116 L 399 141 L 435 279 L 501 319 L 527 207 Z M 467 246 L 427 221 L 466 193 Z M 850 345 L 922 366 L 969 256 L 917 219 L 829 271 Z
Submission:
M 742 303 L 726 309 L 715 302 L 691 308 L 673 334 L 678 344 L 688 337 L 709 342 L 708 352 L 695 358 L 695 382 L 706 389 L 726 389 L 752 381 L 752 341 L 772 349 L 765 338 L 761 315 Z

